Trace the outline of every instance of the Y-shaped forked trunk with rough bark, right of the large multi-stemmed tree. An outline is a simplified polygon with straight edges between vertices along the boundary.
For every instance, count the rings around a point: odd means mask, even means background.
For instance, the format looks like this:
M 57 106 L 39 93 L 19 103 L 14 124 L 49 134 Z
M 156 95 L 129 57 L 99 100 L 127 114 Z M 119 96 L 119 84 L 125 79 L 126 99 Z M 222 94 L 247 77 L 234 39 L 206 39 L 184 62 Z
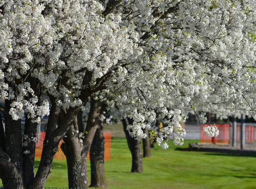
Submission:
M 79 126 L 81 125 L 81 120 L 74 120 L 72 127 L 66 134 L 67 137 L 64 137 L 64 144 L 62 144 L 61 148 L 67 159 L 69 188 L 88 189 L 86 158 L 97 129 L 97 117 L 100 115 L 100 110 L 100 102 L 91 102 L 83 143 L 80 142 L 76 132 L 81 129 L 81 126 Z M 82 118 L 82 116 L 79 117 L 80 119 Z M 63 120 L 63 118 L 60 117 L 60 120 Z

